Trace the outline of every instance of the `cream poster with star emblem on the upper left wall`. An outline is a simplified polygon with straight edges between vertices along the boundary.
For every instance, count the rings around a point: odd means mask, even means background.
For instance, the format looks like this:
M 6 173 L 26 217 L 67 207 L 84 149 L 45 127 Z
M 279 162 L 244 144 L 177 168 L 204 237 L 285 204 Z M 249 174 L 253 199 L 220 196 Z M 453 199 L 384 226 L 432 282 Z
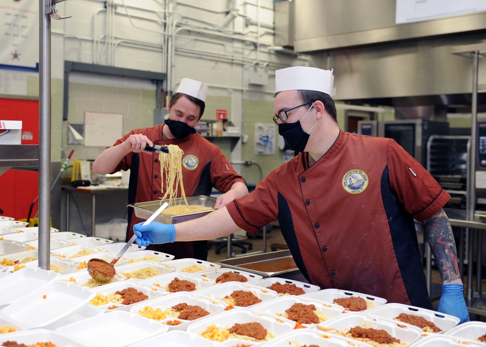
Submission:
M 39 1 L 0 1 L 0 68 L 39 68 Z

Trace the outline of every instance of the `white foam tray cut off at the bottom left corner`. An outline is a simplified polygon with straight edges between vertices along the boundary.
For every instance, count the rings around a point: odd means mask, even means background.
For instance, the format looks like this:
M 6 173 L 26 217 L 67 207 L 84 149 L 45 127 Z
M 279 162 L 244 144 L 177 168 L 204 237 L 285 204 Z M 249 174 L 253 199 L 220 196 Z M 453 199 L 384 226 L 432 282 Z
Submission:
M 6 341 L 17 341 L 18 344 L 24 345 L 34 345 L 37 342 L 49 341 L 56 346 L 83 347 L 80 343 L 61 335 L 58 332 L 46 329 L 23 330 L 0 335 L 0 345 Z

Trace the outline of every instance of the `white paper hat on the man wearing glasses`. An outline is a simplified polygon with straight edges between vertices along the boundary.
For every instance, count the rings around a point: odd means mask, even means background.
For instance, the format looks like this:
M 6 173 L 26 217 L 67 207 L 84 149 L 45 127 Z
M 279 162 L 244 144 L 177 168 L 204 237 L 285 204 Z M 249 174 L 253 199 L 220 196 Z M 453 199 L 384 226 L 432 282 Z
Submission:
M 293 66 L 275 71 L 276 93 L 283 90 L 315 90 L 331 95 L 333 82 L 332 70 Z

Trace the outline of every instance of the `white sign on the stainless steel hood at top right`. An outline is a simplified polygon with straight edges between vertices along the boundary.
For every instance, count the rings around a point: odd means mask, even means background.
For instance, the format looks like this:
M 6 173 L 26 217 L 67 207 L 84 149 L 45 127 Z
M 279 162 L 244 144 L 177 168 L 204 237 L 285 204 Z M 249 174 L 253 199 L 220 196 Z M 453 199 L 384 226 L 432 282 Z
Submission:
M 421 22 L 485 11 L 485 0 L 397 0 L 395 23 Z

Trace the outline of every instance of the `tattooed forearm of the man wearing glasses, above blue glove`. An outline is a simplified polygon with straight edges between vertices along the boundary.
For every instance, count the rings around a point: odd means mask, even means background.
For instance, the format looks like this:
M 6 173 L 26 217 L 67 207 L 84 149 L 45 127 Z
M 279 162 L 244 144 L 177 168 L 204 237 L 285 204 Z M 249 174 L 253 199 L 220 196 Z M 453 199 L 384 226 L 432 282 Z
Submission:
M 442 283 L 461 278 L 457 263 L 457 251 L 451 224 L 441 208 L 434 216 L 422 222 L 427 243 L 434 253 Z

